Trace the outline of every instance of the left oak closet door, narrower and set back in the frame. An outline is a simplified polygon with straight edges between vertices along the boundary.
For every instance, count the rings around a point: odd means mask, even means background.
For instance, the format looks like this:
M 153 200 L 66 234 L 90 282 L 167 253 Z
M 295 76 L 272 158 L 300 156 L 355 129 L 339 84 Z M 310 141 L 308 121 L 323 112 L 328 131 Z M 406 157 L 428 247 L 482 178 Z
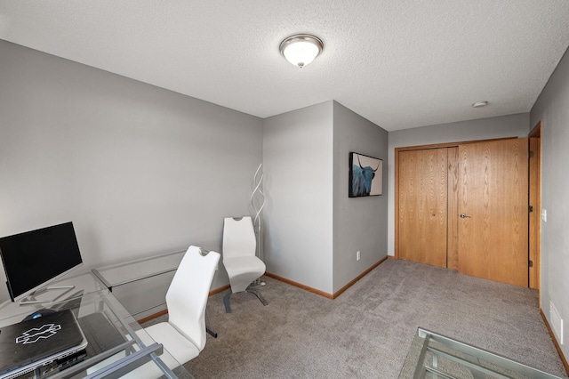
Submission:
M 447 149 L 398 153 L 398 252 L 407 261 L 446 267 Z

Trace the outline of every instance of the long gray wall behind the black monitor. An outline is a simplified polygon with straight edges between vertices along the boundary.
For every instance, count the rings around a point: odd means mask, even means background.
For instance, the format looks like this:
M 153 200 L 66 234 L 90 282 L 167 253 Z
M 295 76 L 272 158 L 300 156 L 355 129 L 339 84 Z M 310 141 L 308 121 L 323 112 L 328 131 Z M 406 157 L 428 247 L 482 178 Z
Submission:
M 260 118 L 1 40 L 0 68 L 0 236 L 73 221 L 92 268 L 219 251 L 249 213 Z

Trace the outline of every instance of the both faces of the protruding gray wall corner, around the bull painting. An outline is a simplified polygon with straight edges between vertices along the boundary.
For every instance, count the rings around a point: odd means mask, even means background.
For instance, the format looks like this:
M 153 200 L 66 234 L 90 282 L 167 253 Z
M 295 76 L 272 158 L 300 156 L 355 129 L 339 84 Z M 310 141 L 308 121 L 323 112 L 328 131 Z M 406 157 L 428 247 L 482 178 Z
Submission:
M 268 272 L 333 294 L 387 256 L 387 170 L 381 197 L 348 198 L 350 151 L 387 167 L 388 133 L 336 101 L 263 120 Z

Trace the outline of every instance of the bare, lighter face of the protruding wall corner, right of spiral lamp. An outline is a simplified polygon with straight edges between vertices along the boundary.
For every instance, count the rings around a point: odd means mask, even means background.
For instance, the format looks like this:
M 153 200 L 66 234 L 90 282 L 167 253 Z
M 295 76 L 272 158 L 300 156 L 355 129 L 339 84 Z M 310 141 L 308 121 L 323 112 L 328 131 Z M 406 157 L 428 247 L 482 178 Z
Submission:
M 263 120 L 270 273 L 333 292 L 333 101 Z

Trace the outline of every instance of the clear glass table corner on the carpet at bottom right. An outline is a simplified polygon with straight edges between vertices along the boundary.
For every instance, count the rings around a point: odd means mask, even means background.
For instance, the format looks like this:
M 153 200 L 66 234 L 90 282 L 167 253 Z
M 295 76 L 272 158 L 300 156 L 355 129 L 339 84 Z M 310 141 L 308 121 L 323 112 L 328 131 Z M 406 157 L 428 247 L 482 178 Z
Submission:
M 399 379 L 561 379 L 467 343 L 417 329 Z

